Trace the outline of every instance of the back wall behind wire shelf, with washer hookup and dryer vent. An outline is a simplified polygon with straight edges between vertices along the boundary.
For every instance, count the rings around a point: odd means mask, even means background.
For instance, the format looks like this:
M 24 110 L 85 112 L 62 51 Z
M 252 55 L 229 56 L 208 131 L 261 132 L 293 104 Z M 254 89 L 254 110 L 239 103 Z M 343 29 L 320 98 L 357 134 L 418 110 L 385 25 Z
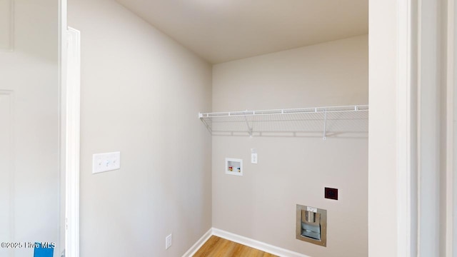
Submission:
M 213 111 L 352 104 L 368 104 L 368 36 L 213 68 Z M 215 228 L 313 257 L 367 256 L 368 138 L 214 136 L 212 151 Z M 225 174 L 226 157 L 243 158 L 243 176 Z M 297 203 L 328 211 L 326 248 L 296 240 Z

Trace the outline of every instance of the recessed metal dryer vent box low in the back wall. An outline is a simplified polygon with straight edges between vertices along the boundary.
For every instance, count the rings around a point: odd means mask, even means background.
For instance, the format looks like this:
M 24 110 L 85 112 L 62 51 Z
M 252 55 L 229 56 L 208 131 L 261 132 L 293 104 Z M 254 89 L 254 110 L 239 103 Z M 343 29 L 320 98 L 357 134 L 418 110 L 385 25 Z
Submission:
M 296 238 L 327 246 L 327 211 L 297 204 Z

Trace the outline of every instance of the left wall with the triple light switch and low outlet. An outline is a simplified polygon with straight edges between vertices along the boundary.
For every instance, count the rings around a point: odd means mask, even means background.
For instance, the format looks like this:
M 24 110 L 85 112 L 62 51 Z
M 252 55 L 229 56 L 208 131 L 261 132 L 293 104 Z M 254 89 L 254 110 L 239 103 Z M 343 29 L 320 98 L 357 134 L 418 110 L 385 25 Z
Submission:
M 211 66 L 114 0 L 70 0 L 81 31 L 81 256 L 181 256 L 211 228 Z M 91 174 L 93 153 L 121 169 Z M 165 250 L 165 237 L 173 246 Z

